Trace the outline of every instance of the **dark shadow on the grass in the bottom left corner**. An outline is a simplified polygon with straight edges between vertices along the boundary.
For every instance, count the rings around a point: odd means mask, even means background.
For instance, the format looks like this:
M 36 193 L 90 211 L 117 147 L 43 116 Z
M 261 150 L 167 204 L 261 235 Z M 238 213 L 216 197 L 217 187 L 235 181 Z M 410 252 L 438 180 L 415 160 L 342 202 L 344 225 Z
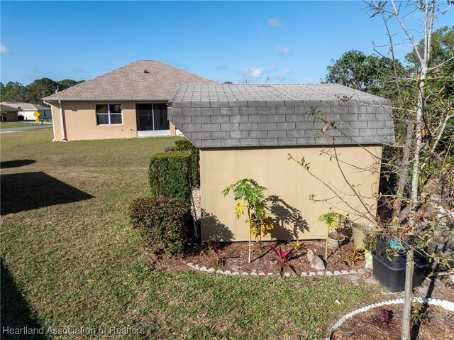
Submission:
M 1 266 L 1 339 L 46 339 L 44 334 L 11 334 L 10 329 L 26 327 L 28 332 L 38 333 L 42 326 L 33 319 L 30 306 L 18 292 L 13 277 L 4 266 L 0 258 Z M 25 331 L 24 330 L 24 331 Z

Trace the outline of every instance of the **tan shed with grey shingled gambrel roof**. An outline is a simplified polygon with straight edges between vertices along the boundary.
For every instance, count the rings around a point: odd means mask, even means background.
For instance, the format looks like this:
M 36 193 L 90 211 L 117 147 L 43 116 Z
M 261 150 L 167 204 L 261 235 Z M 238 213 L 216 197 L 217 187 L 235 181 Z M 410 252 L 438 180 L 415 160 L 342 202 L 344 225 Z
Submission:
M 248 240 L 233 195 L 221 194 L 243 178 L 267 187 L 272 239 L 326 238 L 318 217 L 330 207 L 360 223 L 375 214 L 382 146 L 394 142 L 389 100 L 338 84 L 186 84 L 168 105 L 200 148 L 204 240 Z

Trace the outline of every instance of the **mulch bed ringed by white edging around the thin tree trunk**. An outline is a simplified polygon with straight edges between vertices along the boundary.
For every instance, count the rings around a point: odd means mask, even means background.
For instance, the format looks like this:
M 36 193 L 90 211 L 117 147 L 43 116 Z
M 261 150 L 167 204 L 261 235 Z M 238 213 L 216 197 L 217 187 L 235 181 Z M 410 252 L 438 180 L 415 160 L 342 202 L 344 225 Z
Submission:
M 341 325 L 333 334 L 334 340 L 377 339 L 399 340 L 402 329 L 402 305 L 388 305 L 392 317 L 389 324 L 380 319 L 380 307 L 356 314 Z M 417 333 L 416 333 L 417 331 Z M 427 307 L 426 317 L 419 327 L 414 327 L 412 339 L 418 340 L 453 340 L 454 315 L 438 306 Z

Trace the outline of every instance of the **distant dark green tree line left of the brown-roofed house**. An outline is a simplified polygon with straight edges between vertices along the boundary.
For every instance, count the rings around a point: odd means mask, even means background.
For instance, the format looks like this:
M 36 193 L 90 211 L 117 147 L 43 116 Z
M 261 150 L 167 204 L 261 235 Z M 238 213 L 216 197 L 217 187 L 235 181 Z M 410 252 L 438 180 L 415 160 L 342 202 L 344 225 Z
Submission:
M 49 78 L 36 79 L 28 85 L 20 82 L 8 82 L 6 85 L 0 82 L 0 102 L 24 102 L 45 105 L 43 98 L 62 91 L 85 80 L 63 79 L 58 82 Z

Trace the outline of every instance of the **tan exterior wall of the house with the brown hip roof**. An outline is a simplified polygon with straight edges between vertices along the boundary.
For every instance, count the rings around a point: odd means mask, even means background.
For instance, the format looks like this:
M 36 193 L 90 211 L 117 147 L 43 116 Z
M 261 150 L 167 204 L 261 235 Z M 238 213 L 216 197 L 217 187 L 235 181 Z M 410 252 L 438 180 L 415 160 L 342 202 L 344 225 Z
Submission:
M 123 124 L 96 125 L 96 104 L 121 104 Z M 67 141 L 87 139 L 133 138 L 137 137 L 135 104 L 139 102 L 121 102 L 112 100 L 96 102 L 62 102 L 63 120 Z M 157 102 L 156 102 L 157 103 Z M 167 103 L 167 102 L 162 102 Z M 55 141 L 62 141 L 62 123 L 60 106 L 52 104 L 52 121 L 55 126 Z

